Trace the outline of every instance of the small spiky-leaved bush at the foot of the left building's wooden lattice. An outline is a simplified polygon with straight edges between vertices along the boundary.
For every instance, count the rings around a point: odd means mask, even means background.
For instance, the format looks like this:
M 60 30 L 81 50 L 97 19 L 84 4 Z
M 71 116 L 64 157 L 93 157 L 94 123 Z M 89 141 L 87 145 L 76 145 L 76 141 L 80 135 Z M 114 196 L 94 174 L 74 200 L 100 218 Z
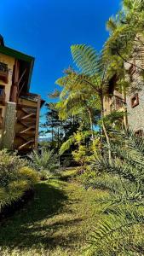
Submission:
M 59 168 L 58 155 L 54 153 L 54 150 L 42 148 L 41 152 L 33 151 L 30 154 L 31 165 L 42 174 L 42 176 L 49 177 Z

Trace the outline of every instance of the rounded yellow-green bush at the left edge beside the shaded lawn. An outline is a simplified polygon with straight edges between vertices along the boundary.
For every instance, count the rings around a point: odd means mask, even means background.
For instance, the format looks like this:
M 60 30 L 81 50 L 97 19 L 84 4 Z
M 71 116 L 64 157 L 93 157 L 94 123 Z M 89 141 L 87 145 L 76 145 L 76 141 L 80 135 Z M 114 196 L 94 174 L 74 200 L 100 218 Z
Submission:
M 0 212 L 3 207 L 20 199 L 37 183 L 38 176 L 26 160 L 15 153 L 0 151 Z

